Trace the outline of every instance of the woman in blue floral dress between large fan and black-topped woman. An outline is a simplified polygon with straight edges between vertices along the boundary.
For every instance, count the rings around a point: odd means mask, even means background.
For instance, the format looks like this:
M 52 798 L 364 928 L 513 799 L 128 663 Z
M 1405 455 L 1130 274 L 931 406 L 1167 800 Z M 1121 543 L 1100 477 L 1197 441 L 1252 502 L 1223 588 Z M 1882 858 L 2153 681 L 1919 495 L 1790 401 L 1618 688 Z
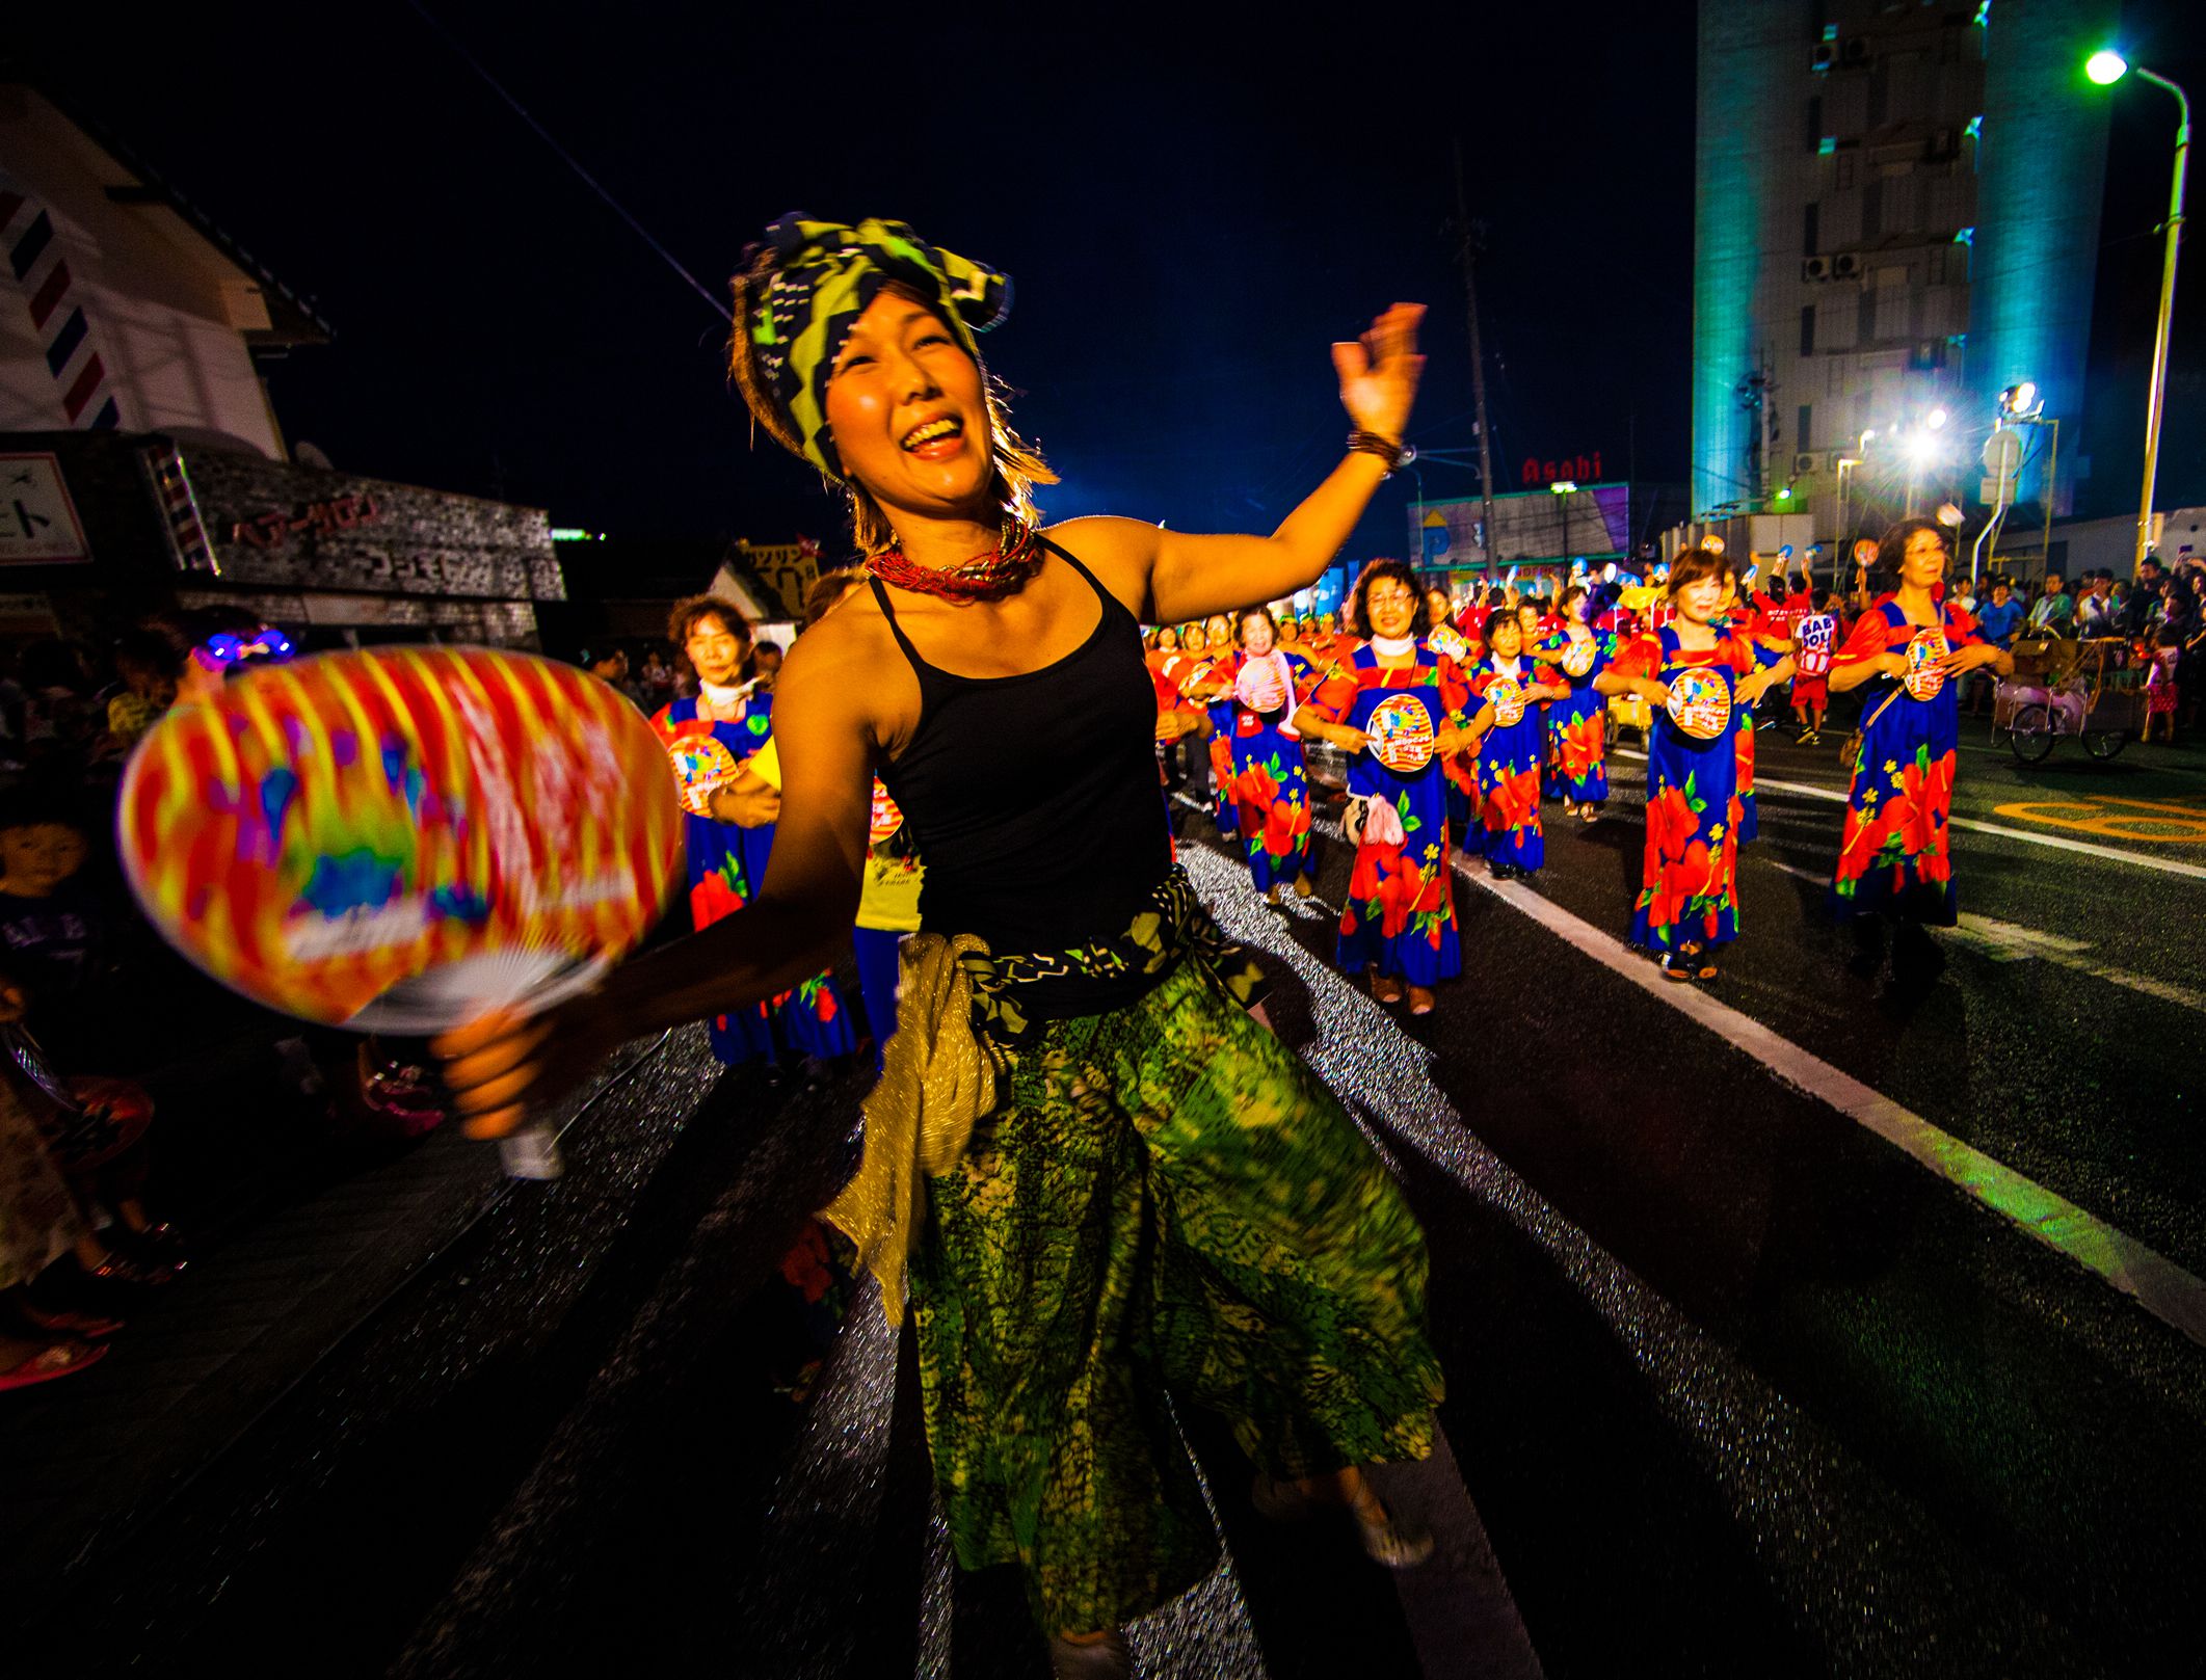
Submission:
M 774 851 L 781 794 L 750 761 L 774 730 L 774 697 L 739 683 L 750 659 L 750 620 L 717 595 L 675 602 L 666 639 L 688 655 L 697 697 L 677 699 L 651 719 L 668 752 L 697 763 L 684 743 L 710 741 L 724 778 L 708 794 L 684 800 L 682 842 L 690 882 L 690 924 L 708 928 L 759 895 Z M 677 763 L 679 763 L 677 761 Z M 770 999 L 713 1016 L 713 1054 L 724 1063 L 783 1056 L 843 1056 L 858 1047 L 829 974 L 816 972 Z

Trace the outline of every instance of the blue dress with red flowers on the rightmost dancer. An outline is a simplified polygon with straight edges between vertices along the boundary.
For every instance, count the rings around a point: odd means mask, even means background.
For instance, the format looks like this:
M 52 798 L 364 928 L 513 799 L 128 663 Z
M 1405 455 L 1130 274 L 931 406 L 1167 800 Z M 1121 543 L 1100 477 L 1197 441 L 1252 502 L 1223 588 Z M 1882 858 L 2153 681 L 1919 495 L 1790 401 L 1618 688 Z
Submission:
M 1939 928 L 1955 924 L 1952 816 L 1955 752 L 1961 743 L 1959 686 L 1937 661 L 1983 642 L 1977 620 L 1952 602 L 1939 624 L 1913 624 L 1886 595 L 1853 624 L 1833 666 L 1906 653 L 1908 679 L 1862 683 L 1862 756 L 1846 794 L 1846 827 L 1831 875 L 1831 908 L 1842 917 L 1895 911 Z

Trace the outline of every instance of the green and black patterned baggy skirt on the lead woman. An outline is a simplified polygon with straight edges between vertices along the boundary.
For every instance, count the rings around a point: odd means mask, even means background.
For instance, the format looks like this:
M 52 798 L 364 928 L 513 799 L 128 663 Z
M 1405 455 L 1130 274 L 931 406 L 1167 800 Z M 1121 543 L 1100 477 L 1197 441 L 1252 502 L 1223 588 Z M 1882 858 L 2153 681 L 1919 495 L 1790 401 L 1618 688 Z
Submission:
M 929 1180 L 911 1254 L 957 1561 L 1048 1631 L 1116 1627 L 1218 1557 L 1165 1404 L 1306 1477 L 1432 1451 L 1425 1239 L 1379 1155 L 1218 972 L 1046 1023 Z

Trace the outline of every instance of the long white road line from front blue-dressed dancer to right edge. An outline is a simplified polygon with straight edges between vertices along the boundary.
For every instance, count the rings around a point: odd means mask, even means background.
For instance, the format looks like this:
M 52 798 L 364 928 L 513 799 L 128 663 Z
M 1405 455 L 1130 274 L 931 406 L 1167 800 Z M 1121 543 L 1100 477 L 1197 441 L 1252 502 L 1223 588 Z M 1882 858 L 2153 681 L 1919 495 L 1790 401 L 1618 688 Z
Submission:
M 1787 873 L 1802 873 L 1791 864 L 1774 866 Z M 1780 1038 L 1752 1014 L 1718 1003 L 1699 986 L 1681 986 L 1663 979 L 1654 963 L 1632 952 L 1621 939 L 1602 933 L 1560 904 L 1551 904 L 1529 886 L 1496 882 L 1485 873 L 1474 873 L 1463 858 L 1456 860 L 1456 873 L 1474 886 L 1493 893 L 1513 911 L 1522 911 L 1557 939 L 1621 974 L 1641 992 L 1661 999 L 1679 1014 L 1690 1016 L 1725 1043 L 1754 1056 L 1754 1060 L 1785 1085 L 1838 1109 L 1849 1120 L 1910 1155 L 1932 1175 L 2010 1219 L 2030 1237 L 2067 1254 L 2085 1270 L 2096 1272 L 2122 1294 L 2133 1296 L 2138 1305 L 2162 1323 L 2206 1345 L 2206 1281 L 2199 1281 L 2175 1261 L 2146 1248 L 2135 1237 L 2127 1237 L 2105 1219 L 2085 1213 L 2074 1202 L 2054 1195 L 2043 1184 L 2023 1177 L 2012 1166 L 2001 1166 L 1983 1151 L 1939 1131 L 1913 1109 L 1899 1107 L 1851 1074 L 1809 1054 L 1789 1038 Z

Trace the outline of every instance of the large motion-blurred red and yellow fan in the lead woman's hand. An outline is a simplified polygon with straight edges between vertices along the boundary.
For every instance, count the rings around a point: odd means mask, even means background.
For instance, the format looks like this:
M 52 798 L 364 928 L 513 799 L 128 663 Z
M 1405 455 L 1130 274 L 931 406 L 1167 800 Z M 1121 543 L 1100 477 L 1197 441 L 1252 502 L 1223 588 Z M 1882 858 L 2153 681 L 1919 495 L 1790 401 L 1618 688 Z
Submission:
M 218 981 L 401 1034 L 587 990 L 682 860 L 642 712 L 483 648 L 249 670 L 139 743 L 117 829 L 148 917 Z

